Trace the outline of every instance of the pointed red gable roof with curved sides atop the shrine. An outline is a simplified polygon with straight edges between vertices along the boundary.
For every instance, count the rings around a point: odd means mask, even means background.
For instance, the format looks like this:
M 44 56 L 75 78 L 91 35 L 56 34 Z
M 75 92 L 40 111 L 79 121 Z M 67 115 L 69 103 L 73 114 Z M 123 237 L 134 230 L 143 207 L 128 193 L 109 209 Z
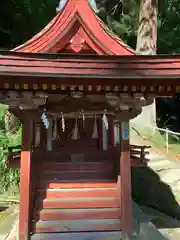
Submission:
M 12 51 L 135 55 L 97 17 L 88 0 L 68 0 L 42 31 Z

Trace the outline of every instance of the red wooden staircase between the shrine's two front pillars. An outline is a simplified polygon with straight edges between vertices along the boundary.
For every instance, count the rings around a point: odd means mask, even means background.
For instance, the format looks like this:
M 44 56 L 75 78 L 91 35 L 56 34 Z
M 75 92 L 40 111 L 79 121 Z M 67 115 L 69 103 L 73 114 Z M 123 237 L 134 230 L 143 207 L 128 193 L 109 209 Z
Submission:
M 120 190 L 111 162 L 39 166 L 31 239 L 120 239 Z

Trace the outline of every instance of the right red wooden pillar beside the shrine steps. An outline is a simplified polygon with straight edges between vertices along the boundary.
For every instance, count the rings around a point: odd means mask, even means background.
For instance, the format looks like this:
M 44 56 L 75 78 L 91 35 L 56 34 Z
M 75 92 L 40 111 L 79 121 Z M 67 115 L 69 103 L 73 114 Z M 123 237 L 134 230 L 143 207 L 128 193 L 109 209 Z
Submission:
M 122 232 L 132 231 L 131 162 L 129 144 L 129 121 L 120 123 L 121 157 L 121 227 Z

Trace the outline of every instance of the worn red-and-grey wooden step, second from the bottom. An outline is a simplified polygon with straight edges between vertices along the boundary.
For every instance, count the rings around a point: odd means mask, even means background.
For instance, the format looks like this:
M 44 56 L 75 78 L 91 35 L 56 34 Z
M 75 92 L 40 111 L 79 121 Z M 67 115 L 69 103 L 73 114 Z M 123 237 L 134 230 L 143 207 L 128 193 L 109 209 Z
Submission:
M 85 220 L 63 220 L 63 221 L 41 221 L 33 226 L 33 232 L 87 232 L 87 231 L 118 231 L 120 230 L 120 219 L 86 219 Z

